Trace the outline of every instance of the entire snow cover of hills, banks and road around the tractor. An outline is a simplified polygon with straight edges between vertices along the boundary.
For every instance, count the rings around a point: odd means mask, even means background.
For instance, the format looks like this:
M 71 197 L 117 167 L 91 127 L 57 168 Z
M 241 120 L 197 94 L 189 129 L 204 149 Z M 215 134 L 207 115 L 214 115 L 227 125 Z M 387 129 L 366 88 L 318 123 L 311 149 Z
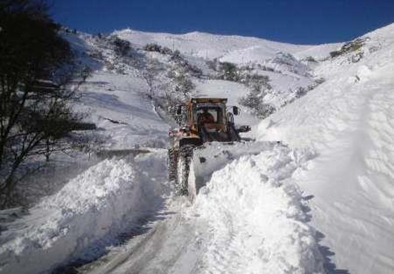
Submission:
M 95 68 L 75 108 L 98 125 L 105 149 L 150 152 L 99 161 L 20 218 L 0 212 L 0 273 L 394 272 L 394 24 L 335 58 L 329 52 L 342 44 L 115 33 L 139 58 L 161 64 L 158 93 L 169 83 L 168 58 L 141 50 L 150 42 L 179 49 L 203 72 L 212 58 L 274 67 L 259 72 L 273 87 L 264 99 L 286 104 L 263 121 L 241 108 L 236 122 L 252 125 L 257 141 L 207 146 L 210 169 L 192 203 L 172 195 L 170 122 L 147 96 L 140 68 L 116 73 L 110 49 L 69 35 Z M 93 51 L 105 62 L 86 54 Z M 289 99 L 315 78 L 326 81 Z M 230 105 L 248 92 L 239 82 L 192 80 L 193 96 L 227 97 Z

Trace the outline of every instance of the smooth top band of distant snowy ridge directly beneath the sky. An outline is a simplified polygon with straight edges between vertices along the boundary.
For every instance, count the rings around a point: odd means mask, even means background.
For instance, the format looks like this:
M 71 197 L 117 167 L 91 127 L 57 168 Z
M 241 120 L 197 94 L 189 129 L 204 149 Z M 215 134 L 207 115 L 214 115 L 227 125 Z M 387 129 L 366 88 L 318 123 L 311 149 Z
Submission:
M 300 58 L 305 56 L 321 58 L 326 57 L 330 51 L 338 48 L 341 44 L 294 45 L 254 37 L 214 35 L 201 32 L 175 35 L 127 29 L 116 31 L 114 34 L 139 47 L 147 43 L 157 43 L 172 49 L 178 49 L 186 55 L 194 55 L 205 59 L 218 58 L 234 63 L 247 63 L 272 58 L 280 51 L 297 55 Z

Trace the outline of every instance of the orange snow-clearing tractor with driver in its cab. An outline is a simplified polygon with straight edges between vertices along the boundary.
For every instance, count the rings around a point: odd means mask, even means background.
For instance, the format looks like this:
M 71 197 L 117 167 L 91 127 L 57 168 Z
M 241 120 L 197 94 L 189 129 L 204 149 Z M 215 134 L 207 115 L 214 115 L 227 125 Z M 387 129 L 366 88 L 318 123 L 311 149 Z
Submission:
M 239 133 L 250 130 L 247 125 L 235 127 L 234 116 L 238 112 L 236 106 L 227 106 L 225 98 L 192 98 L 177 107 L 179 127 L 169 131 L 168 150 L 168 176 L 176 195 L 193 199 L 206 182 L 211 165 L 204 154 L 207 147 L 209 155 L 212 151 L 226 152 L 223 146 L 240 142 Z

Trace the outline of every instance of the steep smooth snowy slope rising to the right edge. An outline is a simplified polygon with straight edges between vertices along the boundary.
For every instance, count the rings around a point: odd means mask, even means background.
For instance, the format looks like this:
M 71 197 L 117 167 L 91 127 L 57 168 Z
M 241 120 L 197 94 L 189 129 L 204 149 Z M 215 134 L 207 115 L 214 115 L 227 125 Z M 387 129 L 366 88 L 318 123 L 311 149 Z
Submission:
M 314 196 L 312 223 L 336 267 L 393 273 L 394 24 L 364 37 L 358 51 L 318 67 L 328 80 L 264 120 L 259 139 L 319 154 L 297 180 Z

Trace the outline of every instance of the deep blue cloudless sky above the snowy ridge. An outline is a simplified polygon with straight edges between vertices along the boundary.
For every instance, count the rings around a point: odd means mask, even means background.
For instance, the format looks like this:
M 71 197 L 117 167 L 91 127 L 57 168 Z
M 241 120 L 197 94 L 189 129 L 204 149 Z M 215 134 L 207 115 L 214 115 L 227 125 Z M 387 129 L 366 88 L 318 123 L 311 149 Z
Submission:
M 54 19 L 96 34 L 141 31 L 254 36 L 317 44 L 394 23 L 394 0 L 49 0 Z

